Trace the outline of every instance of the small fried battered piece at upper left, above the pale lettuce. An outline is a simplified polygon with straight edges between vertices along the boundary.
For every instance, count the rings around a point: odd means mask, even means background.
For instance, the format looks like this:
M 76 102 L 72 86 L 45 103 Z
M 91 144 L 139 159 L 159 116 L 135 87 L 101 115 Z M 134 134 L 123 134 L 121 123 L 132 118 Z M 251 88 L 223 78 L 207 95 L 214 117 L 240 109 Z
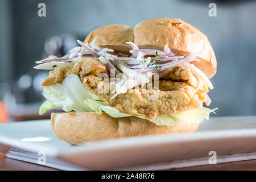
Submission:
M 98 76 L 100 73 L 105 72 L 106 67 L 101 64 L 97 59 L 85 58 L 77 61 L 73 67 L 58 68 L 49 72 L 49 76 L 42 82 L 42 86 L 51 86 L 57 83 L 61 83 L 64 78 L 71 74 L 80 75 L 84 77 L 86 75 Z

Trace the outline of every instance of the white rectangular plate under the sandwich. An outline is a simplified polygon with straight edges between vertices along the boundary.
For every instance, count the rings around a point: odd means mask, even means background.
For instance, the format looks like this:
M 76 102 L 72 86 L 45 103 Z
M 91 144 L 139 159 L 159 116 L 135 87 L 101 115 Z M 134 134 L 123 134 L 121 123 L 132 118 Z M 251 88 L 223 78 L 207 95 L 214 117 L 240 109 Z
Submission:
M 0 125 L 0 143 L 11 146 L 10 158 L 60 169 L 167 169 L 256 159 L 256 117 L 214 117 L 191 134 L 155 135 L 71 146 L 57 139 L 49 121 Z M 64 162 L 64 163 L 63 163 Z M 72 164 L 72 165 L 70 165 Z M 79 167 L 78 167 L 79 166 Z

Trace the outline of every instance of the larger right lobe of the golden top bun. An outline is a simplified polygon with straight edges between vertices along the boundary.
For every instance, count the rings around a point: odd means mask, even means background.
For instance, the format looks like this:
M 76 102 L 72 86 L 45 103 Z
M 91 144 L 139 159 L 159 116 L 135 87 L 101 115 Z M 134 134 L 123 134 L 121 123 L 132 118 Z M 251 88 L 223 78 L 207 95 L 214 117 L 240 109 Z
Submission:
M 179 55 L 204 51 L 194 61 L 209 78 L 217 71 L 215 53 L 207 36 L 181 19 L 155 18 L 137 24 L 134 28 L 134 43 L 139 48 L 164 49 L 166 44 Z

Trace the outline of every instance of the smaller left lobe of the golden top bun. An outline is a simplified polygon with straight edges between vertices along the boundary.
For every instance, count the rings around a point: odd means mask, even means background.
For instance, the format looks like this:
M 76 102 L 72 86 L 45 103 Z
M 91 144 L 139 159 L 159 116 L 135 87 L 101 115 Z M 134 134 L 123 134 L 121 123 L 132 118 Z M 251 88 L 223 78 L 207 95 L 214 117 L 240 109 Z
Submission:
M 133 27 L 120 24 L 103 26 L 90 32 L 84 42 L 92 46 L 108 47 L 120 53 L 129 53 L 131 47 L 126 42 L 134 42 Z

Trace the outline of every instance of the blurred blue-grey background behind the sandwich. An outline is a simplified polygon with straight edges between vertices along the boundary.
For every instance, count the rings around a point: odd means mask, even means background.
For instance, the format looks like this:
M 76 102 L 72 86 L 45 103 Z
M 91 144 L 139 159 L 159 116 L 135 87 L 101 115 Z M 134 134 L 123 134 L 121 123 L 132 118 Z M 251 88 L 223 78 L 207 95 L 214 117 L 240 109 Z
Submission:
M 38 16 L 40 2 L 46 3 L 46 17 Z M 211 2 L 217 5 L 216 17 L 208 15 Z M 15 89 L 22 75 L 38 74 L 32 67 L 52 36 L 85 37 L 105 24 L 135 26 L 151 18 L 180 18 L 207 35 L 216 53 L 210 107 L 219 108 L 218 116 L 256 115 L 255 10 L 255 1 L 0 0 L 0 84 L 14 82 Z M 28 89 L 23 102 L 42 102 L 34 89 Z

